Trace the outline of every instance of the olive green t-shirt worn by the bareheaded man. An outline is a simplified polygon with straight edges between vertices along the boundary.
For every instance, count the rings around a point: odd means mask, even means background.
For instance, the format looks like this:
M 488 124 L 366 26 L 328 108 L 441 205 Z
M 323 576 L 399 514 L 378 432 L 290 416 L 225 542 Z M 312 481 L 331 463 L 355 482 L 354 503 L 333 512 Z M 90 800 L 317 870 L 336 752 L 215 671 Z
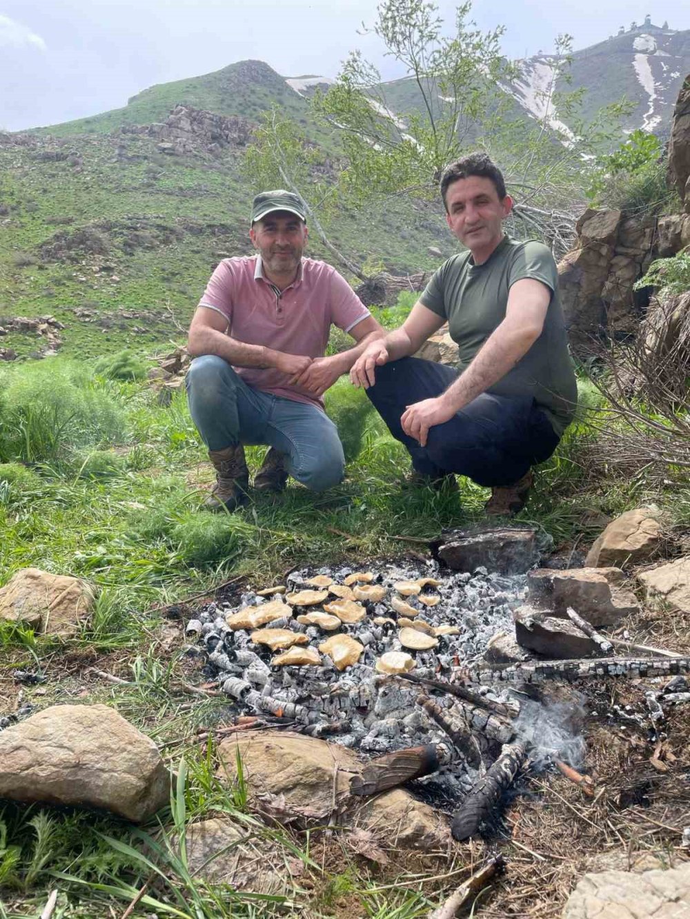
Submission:
M 433 273 L 420 301 L 448 321 L 462 373 L 505 319 L 508 292 L 523 278 L 541 281 L 551 291 L 544 329 L 529 351 L 488 391 L 532 395 L 560 437 L 575 414 L 578 391 L 558 295 L 558 271 L 546 245 L 504 236 L 482 265 L 475 265 L 469 252 L 453 255 Z

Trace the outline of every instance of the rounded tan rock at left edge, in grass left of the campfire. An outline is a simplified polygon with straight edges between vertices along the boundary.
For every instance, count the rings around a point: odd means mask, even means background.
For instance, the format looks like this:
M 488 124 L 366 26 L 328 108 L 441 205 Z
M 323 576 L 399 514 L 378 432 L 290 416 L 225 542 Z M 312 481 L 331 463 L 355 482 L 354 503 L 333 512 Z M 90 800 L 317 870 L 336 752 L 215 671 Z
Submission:
M 0 588 L 0 620 L 50 635 L 74 635 L 93 604 L 93 590 L 84 581 L 38 568 L 22 568 Z

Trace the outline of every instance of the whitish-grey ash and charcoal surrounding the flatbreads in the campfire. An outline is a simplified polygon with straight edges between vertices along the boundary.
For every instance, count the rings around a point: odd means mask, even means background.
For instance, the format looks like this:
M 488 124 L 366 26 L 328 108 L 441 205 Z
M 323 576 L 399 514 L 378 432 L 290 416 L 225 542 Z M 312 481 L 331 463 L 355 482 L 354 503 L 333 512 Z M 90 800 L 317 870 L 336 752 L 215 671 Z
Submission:
M 357 569 L 358 571 L 362 569 Z M 265 645 L 254 644 L 249 630 L 230 630 L 225 618 L 247 607 L 260 607 L 273 597 L 257 596 L 251 591 L 240 597 L 239 604 L 209 604 L 187 624 L 192 641 L 205 645 L 212 673 L 225 693 L 236 700 L 243 712 L 270 712 L 293 718 L 305 732 L 328 736 L 336 743 L 362 750 L 367 754 L 384 754 L 421 743 L 447 743 L 443 731 L 416 705 L 418 686 L 403 684 L 395 678 L 377 674 L 377 658 L 388 651 L 401 651 L 398 627 L 391 623 L 374 624 L 374 617 L 397 620 L 390 606 L 397 581 L 417 580 L 431 576 L 442 583 L 426 587 L 425 593 L 441 597 L 436 606 L 427 607 L 417 596 L 405 601 L 420 610 L 420 618 L 432 627 L 456 626 L 457 635 L 439 636 L 438 647 L 431 651 L 412 652 L 416 659 L 414 673 L 440 676 L 454 664 L 470 664 L 480 657 L 489 639 L 499 630 L 512 628 L 512 609 L 523 602 L 526 578 L 489 574 L 478 568 L 474 574 L 441 572 L 436 562 L 387 564 L 373 566 L 374 584 L 388 588 L 388 595 L 378 603 L 365 603 L 368 615 L 362 621 L 343 623 L 339 631 L 351 635 L 364 646 L 357 664 L 339 672 L 328 655 L 322 655 L 320 666 L 286 666 L 271 668 L 274 652 Z M 308 586 L 315 574 L 327 574 L 342 584 L 352 573 L 350 567 L 302 570 L 290 574 L 289 591 Z M 262 586 L 262 585 L 259 585 Z M 315 608 L 315 607 L 309 607 Z M 316 626 L 305 626 L 296 620 L 304 612 L 295 607 L 293 618 L 282 617 L 265 628 L 289 629 L 305 634 L 309 644 L 318 647 L 328 635 Z M 308 610 L 307 610 L 308 611 Z M 306 647 L 306 646 L 305 646 Z M 493 698 L 507 698 L 506 690 L 494 695 L 488 687 L 482 692 Z M 332 733 L 328 728 L 333 729 Z M 461 767 L 458 767 L 461 766 Z M 464 793 L 476 778 L 465 762 L 443 770 L 433 777 L 441 782 L 450 798 Z

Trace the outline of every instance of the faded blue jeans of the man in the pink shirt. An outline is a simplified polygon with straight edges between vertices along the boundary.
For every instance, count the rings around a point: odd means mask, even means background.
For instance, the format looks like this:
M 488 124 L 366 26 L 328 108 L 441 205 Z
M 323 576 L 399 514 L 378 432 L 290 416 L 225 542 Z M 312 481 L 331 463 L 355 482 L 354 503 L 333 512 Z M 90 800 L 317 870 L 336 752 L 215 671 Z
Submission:
M 342 482 L 345 457 L 336 425 L 316 405 L 255 390 L 222 357 L 195 357 L 187 373 L 190 413 L 210 450 L 269 444 L 293 479 L 315 492 Z

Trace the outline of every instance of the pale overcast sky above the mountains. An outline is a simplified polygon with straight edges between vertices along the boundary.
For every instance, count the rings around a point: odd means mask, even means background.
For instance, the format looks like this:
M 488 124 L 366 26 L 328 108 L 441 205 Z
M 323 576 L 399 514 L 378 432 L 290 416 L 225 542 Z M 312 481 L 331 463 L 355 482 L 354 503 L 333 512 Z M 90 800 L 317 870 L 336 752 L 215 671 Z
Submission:
M 453 21 L 457 3 L 439 0 Z M 335 76 L 359 48 L 385 79 L 401 75 L 362 20 L 376 0 L 0 0 L 0 129 L 57 124 L 125 105 L 147 86 L 258 58 L 283 76 Z M 476 0 L 483 29 L 503 25 L 512 58 L 549 51 L 561 32 L 575 48 L 647 13 L 690 28 L 688 0 Z

